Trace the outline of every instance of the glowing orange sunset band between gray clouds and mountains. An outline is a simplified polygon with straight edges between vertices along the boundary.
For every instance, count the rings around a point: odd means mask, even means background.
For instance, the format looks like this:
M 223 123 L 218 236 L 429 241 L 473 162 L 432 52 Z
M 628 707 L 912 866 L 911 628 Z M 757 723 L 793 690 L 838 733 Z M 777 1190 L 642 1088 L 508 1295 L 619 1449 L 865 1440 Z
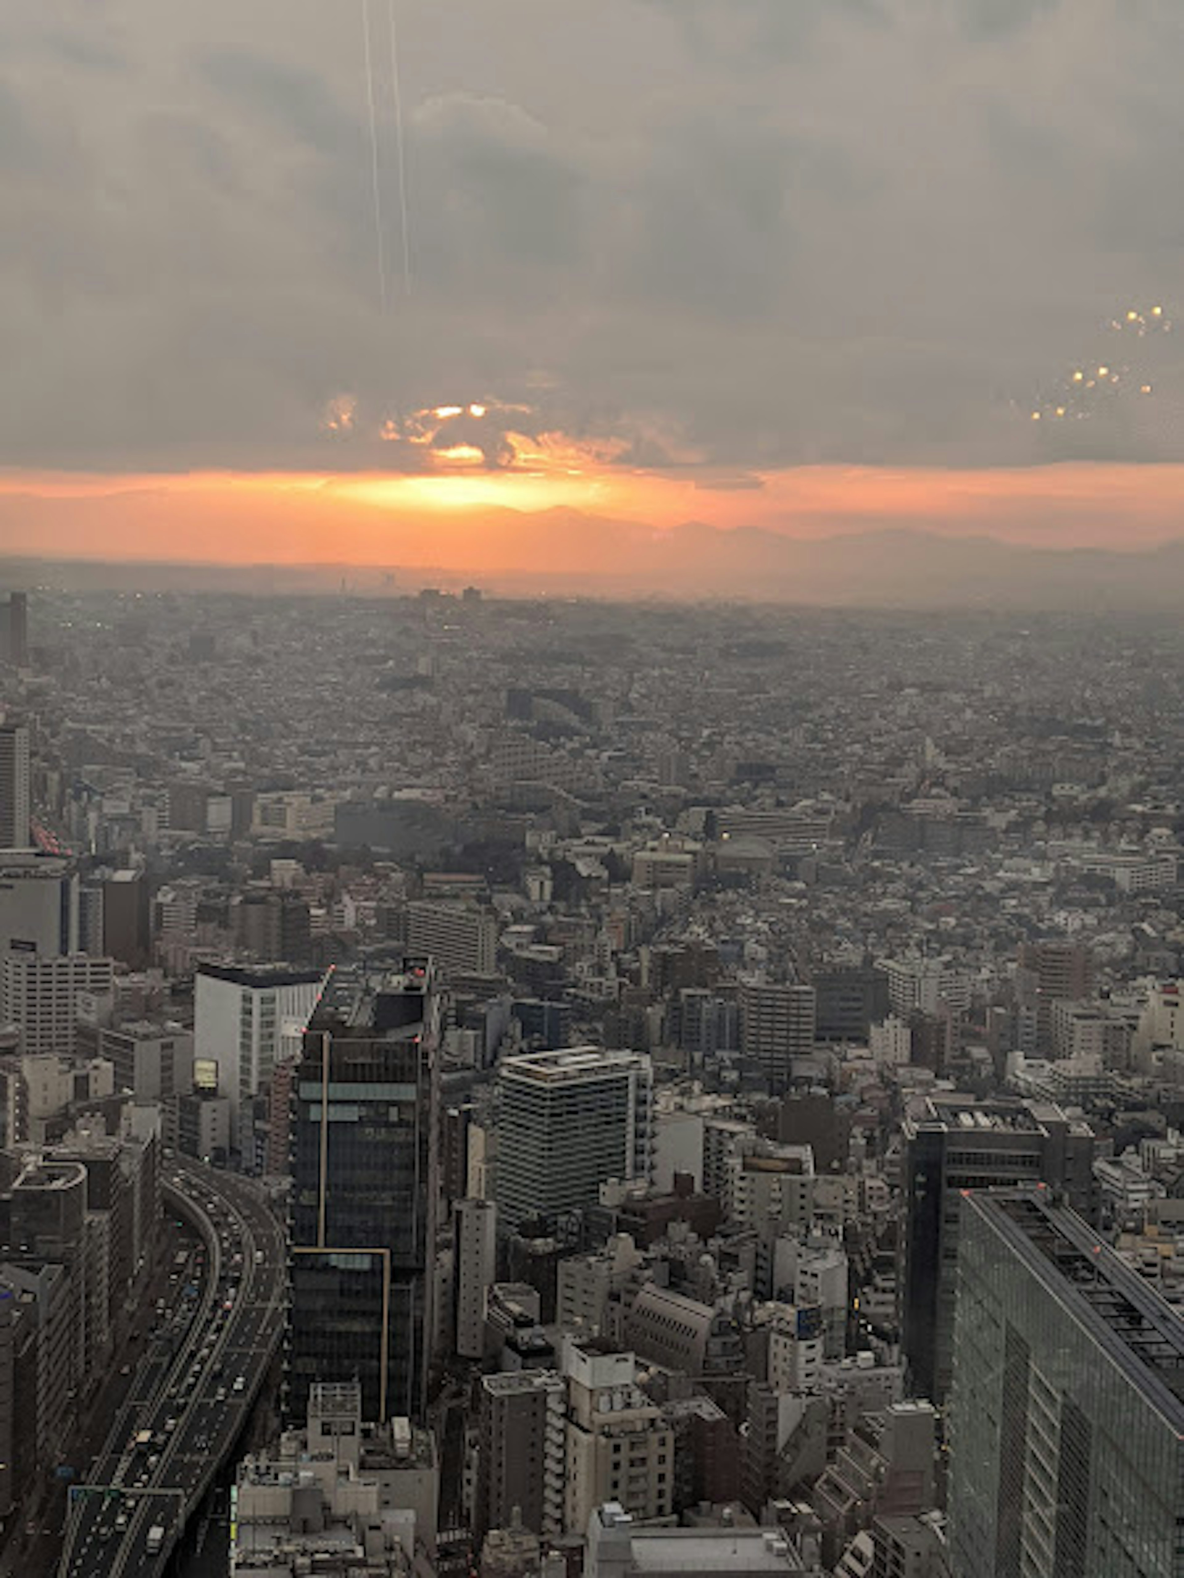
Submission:
M 46 557 L 390 563 L 481 574 L 578 573 L 595 562 L 605 522 L 665 533 L 695 521 L 799 540 L 908 527 L 1029 546 L 1133 549 L 1179 537 L 1184 519 L 1184 466 L 728 475 L 633 469 L 613 464 L 611 450 L 551 439 L 524 440 L 505 469 L 474 464 L 459 445 L 439 453 L 436 467 L 415 475 L 9 470 L 0 477 L 0 525 L 9 552 Z M 548 538 L 548 563 L 524 563 L 518 527 L 543 511 L 567 514 Z

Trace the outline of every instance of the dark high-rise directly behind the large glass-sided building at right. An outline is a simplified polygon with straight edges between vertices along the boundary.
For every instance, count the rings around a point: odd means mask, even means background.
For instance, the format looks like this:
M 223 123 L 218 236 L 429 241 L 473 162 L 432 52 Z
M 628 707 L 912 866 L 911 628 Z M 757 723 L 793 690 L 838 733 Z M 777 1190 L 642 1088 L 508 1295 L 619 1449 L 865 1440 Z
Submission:
M 968 1188 L 1043 1182 L 1096 1210 L 1094 1135 L 1051 1101 L 928 1097 L 905 1133 L 901 1348 L 912 1395 L 941 1403 L 950 1379 L 958 1207 Z

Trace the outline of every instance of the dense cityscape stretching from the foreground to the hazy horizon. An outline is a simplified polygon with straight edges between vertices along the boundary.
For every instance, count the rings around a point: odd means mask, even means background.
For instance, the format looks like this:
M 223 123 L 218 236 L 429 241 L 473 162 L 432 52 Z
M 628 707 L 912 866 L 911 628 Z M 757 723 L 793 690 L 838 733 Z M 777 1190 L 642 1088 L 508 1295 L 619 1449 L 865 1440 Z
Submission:
M 1178 623 L 0 612 L 0 1570 L 1181 1570 Z

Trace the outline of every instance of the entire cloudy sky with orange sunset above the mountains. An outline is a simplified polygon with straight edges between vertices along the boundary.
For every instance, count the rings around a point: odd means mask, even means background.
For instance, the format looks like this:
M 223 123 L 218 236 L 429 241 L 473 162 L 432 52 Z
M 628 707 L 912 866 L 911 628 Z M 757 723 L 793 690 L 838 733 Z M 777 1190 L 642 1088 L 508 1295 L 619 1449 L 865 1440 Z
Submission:
M 1179 0 L 5 6 L 0 549 L 1181 537 L 1181 80 Z

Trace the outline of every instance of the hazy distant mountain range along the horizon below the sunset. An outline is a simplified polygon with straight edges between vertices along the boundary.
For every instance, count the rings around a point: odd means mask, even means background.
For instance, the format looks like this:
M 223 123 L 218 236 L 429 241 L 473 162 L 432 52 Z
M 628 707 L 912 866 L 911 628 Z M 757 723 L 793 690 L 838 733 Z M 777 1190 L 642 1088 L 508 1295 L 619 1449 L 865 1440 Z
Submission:
M 474 519 L 466 522 L 472 541 Z M 0 585 L 76 590 L 396 593 L 423 585 L 560 596 L 726 598 L 857 608 L 1002 608 L 1048 611 L 1184 611 L 1184 538 L 1151 549 L 1028 548 L 991 537 L 882 530 L 800 540 L 761 529 L 720 530 L 691 521 L 666 532 L 571 510 L 480 518 L 486 563 L 466 571 L 447 529 L 436 529 L 437 567 L 399 563 L 412 532 L 395 524 L 385 565 L 216 565 L 144 560 L 0 557 Z

